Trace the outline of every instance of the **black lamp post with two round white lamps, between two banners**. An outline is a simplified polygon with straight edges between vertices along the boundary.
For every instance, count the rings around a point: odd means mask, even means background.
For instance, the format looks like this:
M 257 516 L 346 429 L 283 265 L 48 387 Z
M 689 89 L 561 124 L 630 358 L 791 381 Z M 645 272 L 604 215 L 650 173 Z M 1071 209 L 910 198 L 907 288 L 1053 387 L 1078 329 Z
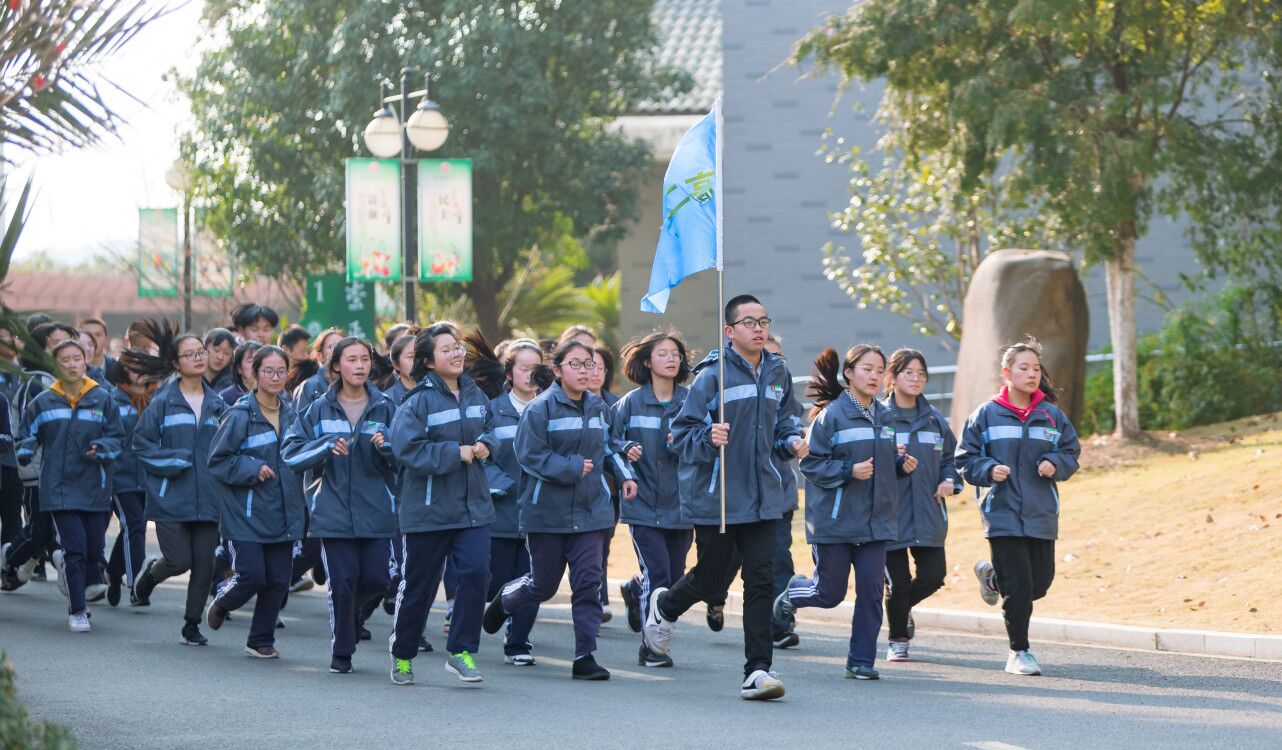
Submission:
M 400 95 L 387 94 L 387 85 L 379 85 L 379 109 L 374 113 L 374 119 L 365 126 L 365 147 L 374 156 L 391 159 L 400 156 L 401 162 L 401 246 L 404 258 L 401 272 L 405 276 L 405 319 L 418 321 L 418 310 L 414 301 L 415 281 L 418 278 L 418 244 L 415 233 L 414 212 L 414 149 L 420 151 L 435 151 L 445 144 L 450 136 L 450 122 L 431 99 L 432 76 L 424 79 L 422 91 L 410 91 L 409 81 L 414 74 L 410 68 L 401 71 Z M 422 96 L 418 106 L 409 113 L 410 99 Z M 394 109 L 395 106 L 395 109 Z M 406 117 L 406 113 L 408 117 Z

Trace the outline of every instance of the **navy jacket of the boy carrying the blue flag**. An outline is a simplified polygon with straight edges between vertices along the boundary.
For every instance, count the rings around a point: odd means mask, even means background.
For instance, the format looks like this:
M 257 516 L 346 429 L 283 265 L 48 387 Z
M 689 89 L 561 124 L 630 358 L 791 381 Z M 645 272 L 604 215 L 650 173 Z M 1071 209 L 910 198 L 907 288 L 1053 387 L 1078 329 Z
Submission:
M 801 429 L 790 418 L 792 374 L 783 360 L 762 353 L 760 374 L 727 344 L 726 523 L 778 519 L 788 510 L 783 474 L 772 456 L 792 458 L 790 442 Z M 710 429 L 718 415 L 717 358 L 712 351 L 695 365 L 695 382 L 673 422 L 672 441 L 679 463 L 677 481 L 685 518 L 694 524 L 720 522 L 720 451 Z

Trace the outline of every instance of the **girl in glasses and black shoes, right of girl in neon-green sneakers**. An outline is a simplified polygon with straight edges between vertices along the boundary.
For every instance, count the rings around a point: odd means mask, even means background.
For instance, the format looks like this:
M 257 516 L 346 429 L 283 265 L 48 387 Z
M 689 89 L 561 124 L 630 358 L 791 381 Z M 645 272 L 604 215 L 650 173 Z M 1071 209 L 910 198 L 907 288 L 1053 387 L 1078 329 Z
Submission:
M 637 490 L 626 462 L 614 460 L 619 456 L 610 446 L 605 401 L 588 390 L 594 369 L 592 349 L 565 341 L 553 353 L 558 381 L 520 417 L 513 449 L 526 473 L 520 531 L 531 572 L 508 582 L 485 612 L 486 632 L 499 632 L 509 617 L 551 599 L 568 565 L 574 679 L 610 678 L 592 655 L 601 627 L 601 551 L 605 531 L 614 527 L 606 464 L 617 472 L 624 500 Z

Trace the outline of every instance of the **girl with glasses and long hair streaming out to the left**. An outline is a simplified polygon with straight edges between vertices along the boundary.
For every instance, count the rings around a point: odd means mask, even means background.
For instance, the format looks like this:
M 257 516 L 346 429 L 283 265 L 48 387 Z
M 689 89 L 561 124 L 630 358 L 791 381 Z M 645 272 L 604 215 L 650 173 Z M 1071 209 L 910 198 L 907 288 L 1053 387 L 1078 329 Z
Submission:
M 163 382 L 133 429 L 133 455 L 146 479 L 146 518 L 156 524 L 160 556 L 144 564 L 129 604 L 147 606 L 162 581 L 190 571 L 182 642 L 204 646 L 200 617 L 214 578 L 221 488 L 209 455 L 227 404 L 205 382 L 205 345 L 191 333 L 176 335 L 168 322 L 135 324 L 158 349 L 155 355 L 126 350 L 121 363 L 144 382 Z M 173 373 L 178 377 L 168 379 Z M 168 382 L 165 382 L 168 379 Z

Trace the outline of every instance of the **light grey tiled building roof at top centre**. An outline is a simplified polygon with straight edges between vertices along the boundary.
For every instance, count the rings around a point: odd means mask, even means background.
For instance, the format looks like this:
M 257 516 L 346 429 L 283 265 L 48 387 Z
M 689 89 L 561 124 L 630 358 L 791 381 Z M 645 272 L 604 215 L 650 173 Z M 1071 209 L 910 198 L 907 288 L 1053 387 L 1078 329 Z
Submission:
M 695 85 L 667 101 L 646 101 L 638 114 L 703 114 L 722 92 L 720 0 L 655 0 L 662 65 L 690 73 Z

